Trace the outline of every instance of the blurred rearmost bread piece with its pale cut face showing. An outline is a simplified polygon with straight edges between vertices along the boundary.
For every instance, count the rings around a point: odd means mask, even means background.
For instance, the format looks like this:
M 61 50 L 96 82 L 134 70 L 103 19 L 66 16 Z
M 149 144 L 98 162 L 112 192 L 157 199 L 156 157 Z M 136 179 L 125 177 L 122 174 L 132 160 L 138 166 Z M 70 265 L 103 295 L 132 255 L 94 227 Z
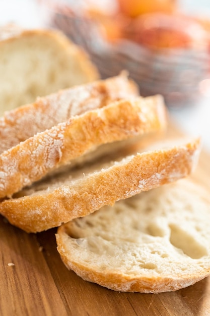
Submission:
M 86 52 L 55 30 L 0 28 L 0 115 L 99 73 Z

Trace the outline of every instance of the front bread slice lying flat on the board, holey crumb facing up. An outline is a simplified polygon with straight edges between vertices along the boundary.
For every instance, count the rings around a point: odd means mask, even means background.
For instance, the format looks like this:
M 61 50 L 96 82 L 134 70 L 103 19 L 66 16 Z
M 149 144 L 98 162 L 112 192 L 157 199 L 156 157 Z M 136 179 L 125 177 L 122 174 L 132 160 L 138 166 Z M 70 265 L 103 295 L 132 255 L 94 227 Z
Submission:
M 58 228 L 57 249 L 84 280 L 159 293 L 210 274 L 210 200 L 189 180 L 104 206 Z

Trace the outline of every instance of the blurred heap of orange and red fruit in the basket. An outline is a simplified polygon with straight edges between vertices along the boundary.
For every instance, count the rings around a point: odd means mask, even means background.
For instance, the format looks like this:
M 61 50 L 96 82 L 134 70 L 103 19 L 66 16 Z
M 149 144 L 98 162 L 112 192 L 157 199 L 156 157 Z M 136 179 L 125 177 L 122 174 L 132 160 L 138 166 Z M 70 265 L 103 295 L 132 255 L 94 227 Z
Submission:
M 119 8 L 111 14 L 89 8 L 91 18 L 98 22 L 108 41 L 125 38 L 153 49 L 199 48 L 208 44 L 206 28 L 210 29 L 210 23 L 178 13 L 176 1 L 117 1 Z

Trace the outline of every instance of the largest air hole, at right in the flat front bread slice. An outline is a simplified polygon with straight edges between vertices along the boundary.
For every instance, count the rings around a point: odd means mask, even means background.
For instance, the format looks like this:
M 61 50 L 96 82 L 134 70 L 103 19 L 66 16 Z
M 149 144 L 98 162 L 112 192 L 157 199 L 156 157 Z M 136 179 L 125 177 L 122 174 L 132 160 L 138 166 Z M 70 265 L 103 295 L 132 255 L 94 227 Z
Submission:
M 203 247 L 194 236 L 177 225 L 171 224 L 169 227 L 171 229 L 170 242 L 174 247 L 181 249 L 192 259 L 198 259 L 207 255 L 206 248 Z

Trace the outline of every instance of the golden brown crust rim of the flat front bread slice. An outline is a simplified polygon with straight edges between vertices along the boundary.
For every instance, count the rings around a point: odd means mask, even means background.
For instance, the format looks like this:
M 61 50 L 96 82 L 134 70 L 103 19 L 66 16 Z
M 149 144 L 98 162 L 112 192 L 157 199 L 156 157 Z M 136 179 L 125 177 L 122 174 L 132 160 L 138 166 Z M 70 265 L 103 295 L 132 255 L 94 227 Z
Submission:
M 161 293 L 177 291 L 184 287 L 193 285 L 194 283 L 202 280 L 209 275 L 209 268 L 202 269 L 202 272 L 194 274 L 186 274 L 181 276 L 134 276 L 134 275 L 123 275 L 121 273 L 106 272 L 94 270 L 95 267 L 88 265 L 80 265 L 78 262 L 71 261 L 69 252 L 65 250 L 67 243 L 65 234 L 62 231 L 62 226 L 59 227 L 58 233 L 56 234 L 57 250 L 61 256 L 61 259 L 67 269 L 73 270 L 77 275 L 89 282 L 95 282 L 101 286 L 107 287 L 108 289 L 120 292 L 140 292 L 140 293 Z

